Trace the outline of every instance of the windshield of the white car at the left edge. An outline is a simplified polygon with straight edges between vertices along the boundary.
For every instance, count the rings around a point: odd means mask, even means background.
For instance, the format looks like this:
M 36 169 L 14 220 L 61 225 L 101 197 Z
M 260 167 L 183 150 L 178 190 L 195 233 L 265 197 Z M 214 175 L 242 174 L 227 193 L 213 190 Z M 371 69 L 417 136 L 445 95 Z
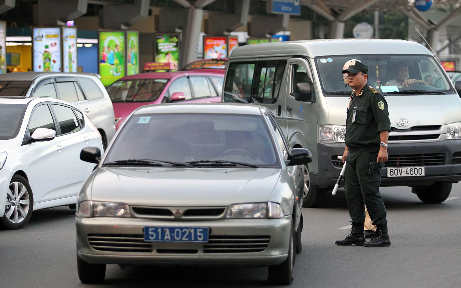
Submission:
M 0 104 L 0 140 L 13 139 L 23 122 L 25 104 Z

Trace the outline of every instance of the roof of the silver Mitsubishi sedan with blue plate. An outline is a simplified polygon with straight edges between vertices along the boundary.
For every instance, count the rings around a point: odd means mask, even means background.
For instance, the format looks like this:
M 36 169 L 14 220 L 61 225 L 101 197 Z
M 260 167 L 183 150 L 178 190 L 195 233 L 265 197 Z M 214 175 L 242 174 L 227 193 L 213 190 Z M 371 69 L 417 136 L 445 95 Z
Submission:
M 247 114 L 261 115 L 268 110 L 264 106 L 254 104 L 233 103 L 170 103 L 153 104 L 138 108 L 135 115 L 152 113 L 212 113 L 212 114 Z

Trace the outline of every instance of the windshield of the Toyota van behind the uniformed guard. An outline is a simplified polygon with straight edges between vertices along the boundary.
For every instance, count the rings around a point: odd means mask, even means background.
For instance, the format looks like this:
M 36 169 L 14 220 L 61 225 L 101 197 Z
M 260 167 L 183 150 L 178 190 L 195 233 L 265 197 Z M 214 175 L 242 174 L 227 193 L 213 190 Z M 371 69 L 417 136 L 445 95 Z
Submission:
M 384 95 L 455 94 L 440 64 L 430 55 L 369 54 L 315 58 L 325 96 L 350 96 L 352 89 L 340 80 L 349 59 L 368 66 L 368 85 Z M 407 85 L 407 79 L 418 81 Z

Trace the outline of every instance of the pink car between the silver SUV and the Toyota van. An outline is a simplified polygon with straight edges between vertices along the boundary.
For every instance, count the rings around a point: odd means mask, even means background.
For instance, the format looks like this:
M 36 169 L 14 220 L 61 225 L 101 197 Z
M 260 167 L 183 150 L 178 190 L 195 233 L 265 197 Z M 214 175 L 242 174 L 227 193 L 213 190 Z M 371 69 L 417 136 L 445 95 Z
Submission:
M 136 108 L 172 102 L 221 101 L 224 69 L 202 69 L 177 72 L 145 72 L 125 76 L 109 85 L 107 93 L 112 100 L 115 128 Z

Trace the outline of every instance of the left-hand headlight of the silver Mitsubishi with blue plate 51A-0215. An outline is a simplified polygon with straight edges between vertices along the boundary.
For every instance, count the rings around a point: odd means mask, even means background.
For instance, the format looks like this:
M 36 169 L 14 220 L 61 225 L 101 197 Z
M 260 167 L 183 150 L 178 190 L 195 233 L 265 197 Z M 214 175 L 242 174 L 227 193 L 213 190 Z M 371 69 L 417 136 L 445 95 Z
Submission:
M 119 202 L 85 200 L 78 204 L 81 217 L 131 217 L 130 206 Z

